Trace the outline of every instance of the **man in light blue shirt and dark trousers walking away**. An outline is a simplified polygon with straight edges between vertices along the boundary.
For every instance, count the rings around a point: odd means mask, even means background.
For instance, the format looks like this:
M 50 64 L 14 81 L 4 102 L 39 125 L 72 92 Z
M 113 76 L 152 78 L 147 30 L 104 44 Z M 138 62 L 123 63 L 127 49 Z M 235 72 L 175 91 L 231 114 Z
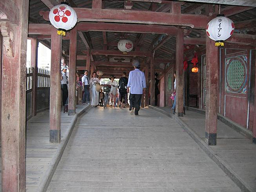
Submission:
M 138 112 L 140 110 L 140 101 L 141 96 L 143 93 L 145 93 L 146 88 L 146 80 L 145 80 L 145 74 L 140 71 L 140 63 L 138 60 L 133 60 L 132 65 L 134 67 L 133 71 L 130 71 L 129 73 L 129 79 L 127 83 L 127 93 L 129 93 L 129 89 L 131 88 L 130 92 L 130 111 L 131 115 L 138 115 Z

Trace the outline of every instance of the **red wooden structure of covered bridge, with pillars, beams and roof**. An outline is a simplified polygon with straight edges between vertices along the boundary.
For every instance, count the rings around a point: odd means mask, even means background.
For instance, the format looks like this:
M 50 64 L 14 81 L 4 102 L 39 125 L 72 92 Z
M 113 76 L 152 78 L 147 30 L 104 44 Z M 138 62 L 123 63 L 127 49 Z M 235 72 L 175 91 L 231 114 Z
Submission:
M 81 1 L 67 3 L 76 11 L 76 26 L 59 36 L 49 21 L 49 11 L 62 1 L 0 1 L 1 42 L 1 135 L 4 177 L 3 191 L 24 191 L 26 178 L 26 50 L 32 39 L 31 66 L 37 68 L 37 46 L 41 42 L 51 49 L 50 142 L 60 142 L 61 89 L 60 61 L 69 66 L 69 115 L 76 114 L 76 74 L 102 71 L 102 78 L 129 74 L 132 59 L 138 59 L 145 73 L 147 91 L 143 105 L 155 105 L 155 72 L 160 78 L 159 106 L 170 106 L 176 71 L 176 115 L 183 116 L 184 105 L 196 98 L 196 107 L 205 110 L 205 138 L 216 145 L 217 114 L 250 131 L 256 142 L 255 47 L 256 2 L 226 1 Z M 205 29 L 217 14 L 230 18 L 234 33 L 224 48 L 215 47 Z M 131 52 L 123 53 L 117 44 L 121 39 L 133 41 Z M 227 90 L 225 66 L 229 57 L 242 54 L 246 61 L 243 91 Z M 198 55 L 199 73 L 192 74 L 191 59 Z M 184 60 L 188 68 L 183 69 Z M 234 69 L 236 71 L 236 69 Z M 236 73 L 233 74 L 235 76 Z M 36 84 L 34 83 L 36 89 Z M 235 86 L 236 87 L 236 86 Z M 194 91 L 192 91 L 194 90 Z M 228 94 L 226 94 L 228 92 Z M 241 96 L 242 95 L 242 96 Z M 243 100 L 228 100 L 228 98 Z M 185 102 L 184 102 L 185 100 Z M 32 101 L 35 106 L 36 98 Z M 194 101 L 193 101 L 194 102 Z M 226 105 L 229 103 L 234 108 Z M 223 106 L 223 107 L 222 107 Z M 229 107 L 229 108 L 228 108 Z M 238 111 L 238 115 L 229 114 Z M 240 115 L 244 118 L 237 118 Z M 33 112 L 32 115 L 36 115 Z M 10 141 L 12 141 L 10 143 Z M 14 167 L 14 168 L 13 168 Z M 7 188 L 12 186 L 13 190 Z

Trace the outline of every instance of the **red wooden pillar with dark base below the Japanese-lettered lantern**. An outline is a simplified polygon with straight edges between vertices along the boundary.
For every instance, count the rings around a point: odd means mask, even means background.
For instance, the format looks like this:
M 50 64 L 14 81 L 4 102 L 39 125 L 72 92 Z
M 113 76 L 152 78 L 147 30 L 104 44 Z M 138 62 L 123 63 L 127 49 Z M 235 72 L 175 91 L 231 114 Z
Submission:
M 218 66 L 218 47 L 206 36 L 205 138 L 208 145 L 217 144 Z

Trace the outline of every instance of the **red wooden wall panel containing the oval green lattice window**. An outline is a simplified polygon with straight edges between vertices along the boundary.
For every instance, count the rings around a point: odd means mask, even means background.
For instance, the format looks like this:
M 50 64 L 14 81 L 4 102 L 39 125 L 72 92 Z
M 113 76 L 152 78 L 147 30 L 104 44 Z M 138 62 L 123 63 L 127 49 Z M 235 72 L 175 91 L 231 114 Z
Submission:
M 221 51 L 220 112 L 234 122 L 248 127 L 249 51 Z

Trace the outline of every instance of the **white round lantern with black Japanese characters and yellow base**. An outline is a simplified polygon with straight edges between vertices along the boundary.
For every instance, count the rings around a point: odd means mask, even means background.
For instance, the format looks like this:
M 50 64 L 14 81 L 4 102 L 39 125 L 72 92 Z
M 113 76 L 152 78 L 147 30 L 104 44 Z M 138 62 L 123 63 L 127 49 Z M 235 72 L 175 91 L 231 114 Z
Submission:
M 206 27 L 206 34 L 212 40 L 215 40 L 215 46 L 224 46 L 224 40 L 228 39 L 234 32 L 234 23 L 229 18 L 217 15 Z

